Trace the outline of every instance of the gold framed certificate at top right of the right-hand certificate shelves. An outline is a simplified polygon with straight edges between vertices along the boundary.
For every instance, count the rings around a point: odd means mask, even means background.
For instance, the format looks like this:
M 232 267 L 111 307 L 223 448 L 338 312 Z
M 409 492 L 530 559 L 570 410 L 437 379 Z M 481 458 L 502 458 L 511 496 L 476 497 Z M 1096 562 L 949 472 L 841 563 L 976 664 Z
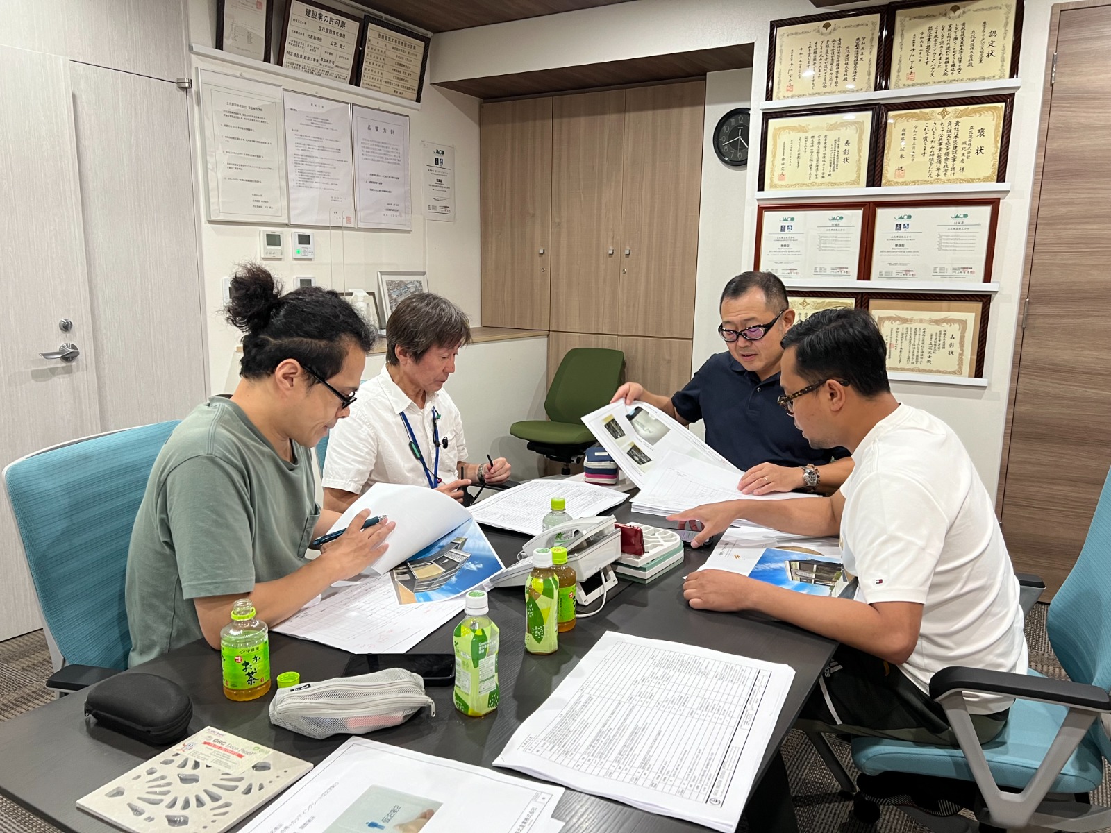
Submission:
M 1022 0 L 893 3 L 890 88 L 992 81 L 1019 73 Z

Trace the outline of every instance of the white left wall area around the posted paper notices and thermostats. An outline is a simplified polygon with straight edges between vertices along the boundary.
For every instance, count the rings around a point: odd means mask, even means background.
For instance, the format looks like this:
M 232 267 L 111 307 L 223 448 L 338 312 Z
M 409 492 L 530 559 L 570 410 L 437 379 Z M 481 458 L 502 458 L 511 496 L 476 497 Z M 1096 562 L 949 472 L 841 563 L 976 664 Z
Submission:
M 216 31 L 216 0 L 188 0 L 190 41 L 206 47 L 213 46 Z M 277 49 L 277 44 L 274 46 Z M 216 72 L 242 74 L 289 90 L 297 90 L 336 101 L 348 101 L 363 107 L 374 107 L 409 116 L 409 143 L 412 197 L 414 208 L 420 207 L 423 168 L 419 151 L 421 141 L 437 141 L 456 149 L 456 222 L 428 221 L 413 211 L 412 231 L 371 231 L 317 229 L 316 258 L 294 261 L 291 258 L 290 238 L 287 234 L 284 261 L 264 261 L 277 274 L 292 283 L 296 275 L 312 275 L 319 285 L 329 289 L 351 288 L 378 292 L 378 270 L 427 271 L 429 289 L 442 294 L 479 323 L 479 100 L 426 84 L 419 111 L 386 103 L 368 101 L 358 94 L 318 87 L 310 79 L 291 80 L 223 63 L 222 61 L 192 56 L 194 68 Z M 202 122 L 199 109 L 199 90 L 194 89 L 194 144 L 197 170 L 203 171 Z M 224 323 L 219 315 L 222 304 L 221 280 L 233 271 L 237 263 L 254 260 L 259 255 L 259 230 L 267 227 L 246 223 L 208 222 L 206 189 L 198 189 L 201 204 L 201 252 L 204 270 L 206 309 L 208 317 L 210 379 L 212 392 L 223 391 L 232 353 L 240 333 Z

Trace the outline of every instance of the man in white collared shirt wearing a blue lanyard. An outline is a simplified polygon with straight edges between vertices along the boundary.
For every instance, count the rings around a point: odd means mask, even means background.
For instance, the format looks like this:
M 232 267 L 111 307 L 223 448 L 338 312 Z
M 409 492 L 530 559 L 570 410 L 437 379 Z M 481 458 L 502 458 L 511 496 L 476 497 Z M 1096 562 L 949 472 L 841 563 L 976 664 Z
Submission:
M 471 340 L 466 313 L 440 295 L 412 295 L 390 315 L 386 339 L 386 367 L 329 438 L 324 506 L 343 511 L 374 483 L 427 485 L 461 500 L 472 482 L 509 478 L 504 458 L 467 462 L 459 409 L 442 390 Z

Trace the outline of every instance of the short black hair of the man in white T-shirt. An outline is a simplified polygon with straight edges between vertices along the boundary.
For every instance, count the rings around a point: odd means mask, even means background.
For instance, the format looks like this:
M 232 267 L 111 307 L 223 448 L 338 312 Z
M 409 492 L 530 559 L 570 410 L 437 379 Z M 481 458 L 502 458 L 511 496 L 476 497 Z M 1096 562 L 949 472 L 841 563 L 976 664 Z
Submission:
M 810 384 L 848 382 L 861 397 L 889 393 L 888 347 L 875 319 L 864 310 L 821 310 L 783 333 L 794 348 L 799 375 Z

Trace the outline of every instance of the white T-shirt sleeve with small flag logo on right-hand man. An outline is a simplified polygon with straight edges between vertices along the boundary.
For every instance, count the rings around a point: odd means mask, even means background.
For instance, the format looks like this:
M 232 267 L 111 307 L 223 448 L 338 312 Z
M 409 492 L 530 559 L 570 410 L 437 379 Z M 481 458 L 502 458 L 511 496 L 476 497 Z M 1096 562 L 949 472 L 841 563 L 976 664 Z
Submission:
M 842 533 L 857 564 L 860 598 L 869 604 L 924 604 L 949 519 L 911 478 L 872 474 L 854 491 L 852 526 Z

